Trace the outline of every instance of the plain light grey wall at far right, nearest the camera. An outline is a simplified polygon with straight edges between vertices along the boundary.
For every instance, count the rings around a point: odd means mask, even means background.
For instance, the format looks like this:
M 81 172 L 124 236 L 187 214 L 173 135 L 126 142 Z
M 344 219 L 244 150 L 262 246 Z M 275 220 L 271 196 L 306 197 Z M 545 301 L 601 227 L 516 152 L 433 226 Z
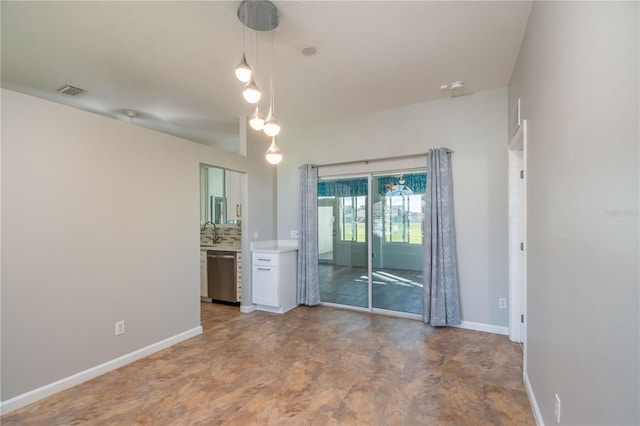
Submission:
M 510 84 L 528 120 L 527 365 L 539 421 L 640 423 L 638 2 L 534 2 Z

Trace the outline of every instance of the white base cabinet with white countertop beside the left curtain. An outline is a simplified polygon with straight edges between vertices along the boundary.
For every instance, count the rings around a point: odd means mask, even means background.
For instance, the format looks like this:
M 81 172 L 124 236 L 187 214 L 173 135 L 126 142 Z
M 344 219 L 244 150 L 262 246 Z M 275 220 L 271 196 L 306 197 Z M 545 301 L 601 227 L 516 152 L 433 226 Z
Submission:
M 297 254 L 252 253 L 253 303 L 259 310 L 284 313 L 296 307 Z

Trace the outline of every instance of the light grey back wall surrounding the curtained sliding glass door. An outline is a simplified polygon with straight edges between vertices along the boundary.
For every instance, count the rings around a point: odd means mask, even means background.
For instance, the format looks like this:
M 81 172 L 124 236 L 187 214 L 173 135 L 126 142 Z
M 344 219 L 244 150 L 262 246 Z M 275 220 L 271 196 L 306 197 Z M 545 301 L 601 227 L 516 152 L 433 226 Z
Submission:
M 464 321 L 508 325 L 507 90 L 283 130 L 278 236 L 298 229 L 298 166 L 387 158 L 448 147 L 453 154 L 461 310 Z M 426 160 L 425 160 L 426 167 Z

